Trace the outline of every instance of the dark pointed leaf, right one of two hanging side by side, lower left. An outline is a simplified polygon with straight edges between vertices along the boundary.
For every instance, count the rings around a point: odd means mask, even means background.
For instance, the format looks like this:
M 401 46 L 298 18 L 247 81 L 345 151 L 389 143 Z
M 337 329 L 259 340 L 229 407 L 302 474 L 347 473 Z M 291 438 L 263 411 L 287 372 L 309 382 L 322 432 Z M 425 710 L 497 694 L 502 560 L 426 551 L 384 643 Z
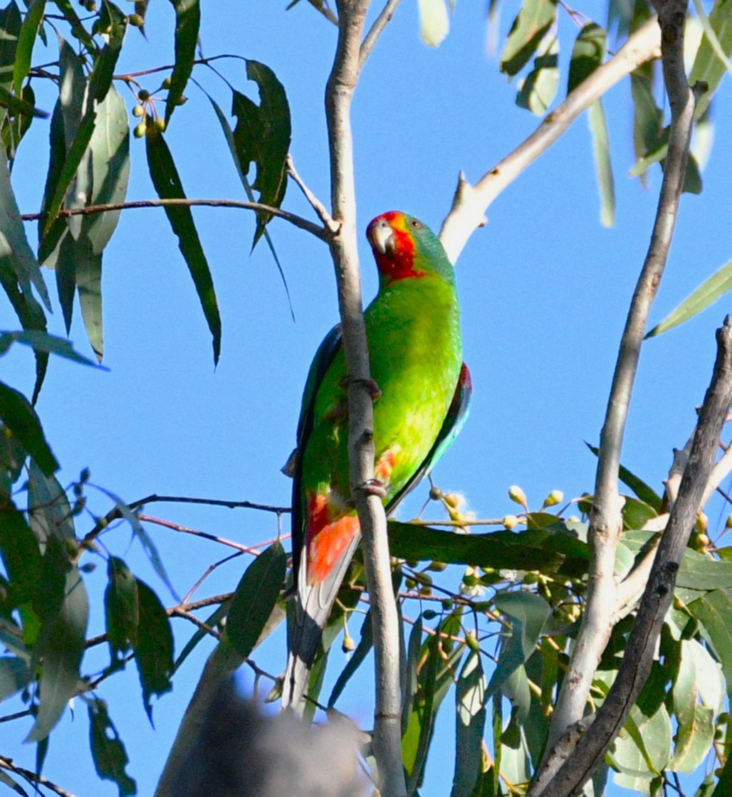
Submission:
M 167 612 L 155 592 L 136 579 L 140 622 L 137 626 L 135 663 L 140 674 L 143 703 L 152 724 L 150 698 L 160 697 L 173 688 L 173 632 Z

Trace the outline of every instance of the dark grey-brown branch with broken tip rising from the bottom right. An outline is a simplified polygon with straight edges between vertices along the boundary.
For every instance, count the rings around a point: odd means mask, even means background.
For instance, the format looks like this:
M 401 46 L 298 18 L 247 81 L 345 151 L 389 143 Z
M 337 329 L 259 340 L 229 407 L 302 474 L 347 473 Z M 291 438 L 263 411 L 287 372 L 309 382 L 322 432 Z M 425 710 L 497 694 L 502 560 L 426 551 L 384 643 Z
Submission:
M 693 103 L 692 103 L 693 108 Z M 573 755 L 544 791 L 529 791 L 529 797 L 569 797 L 576 793 L 604 760 L 604 755 L 623 727 L 653 665 L 655 645 L 663 620 L 674 597 L 676 574 L 687 547 L 704 488 L 714 464 L 719 434 L 732 402 L 732 319 L 727 316 L 717 331 L 717 360 L 706 391 L 699 422 L 684 470 L 679 497 L 659 544 L 638 616 L 623 662 L 608 697 L 595 720 L 577 744 Z

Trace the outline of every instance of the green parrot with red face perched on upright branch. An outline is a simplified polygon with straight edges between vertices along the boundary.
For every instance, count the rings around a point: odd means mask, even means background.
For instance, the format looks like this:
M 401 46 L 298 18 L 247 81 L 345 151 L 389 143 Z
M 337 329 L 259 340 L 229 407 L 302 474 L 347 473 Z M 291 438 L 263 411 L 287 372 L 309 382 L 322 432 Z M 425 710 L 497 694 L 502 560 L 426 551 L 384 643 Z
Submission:
M 389 211 L 366 235 L 379 289 L 364 312 L 372 378 L 374 479 L 387 514 L 429 475 L 462 428 L 472 393 L 462 362 L 455 272 L 419 219 Z M 348 471 L 348 379 L 340 325 L 318 347 L 303 391 L 293 477 L 295 611 L 282 685 L 297 709 L 360 526 Z

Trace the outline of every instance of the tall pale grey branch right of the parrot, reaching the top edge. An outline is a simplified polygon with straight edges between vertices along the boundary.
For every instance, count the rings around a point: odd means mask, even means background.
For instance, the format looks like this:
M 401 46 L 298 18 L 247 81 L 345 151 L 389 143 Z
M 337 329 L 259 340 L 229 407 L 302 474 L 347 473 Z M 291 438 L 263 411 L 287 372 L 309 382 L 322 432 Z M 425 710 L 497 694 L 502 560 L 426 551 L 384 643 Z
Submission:
M 608 409 L 600 434 L 595 495 L 588 534 L 591 563 L 587 605 L 549 728 L 547 754 L 565 731 L 580 720 L 584 713 L 592 675 L 612 631 L 612 611 L 608 611 L 608 607 L 617 605 L 613 571 L 617 543 L 622 529 L 620 515 L 622 505 L 617 488 L 620 450 L 648 313 L 659 288 L 671 246 L 686 175 L 695 108 L 695 96 L 687 84 L 683 69 L 685 0 L 671 0 L 669 5 L 671 3 L 675 3 L 675 10 L 671 14 L 667 6 L 659 10 L 662 15 L 659 26 L 663 31 L 663 73 L 671 104 L 669 150 L 651 244 L 628 311 L 628 320 L 620 341 L 620 351 L 608 398 Z M 657 556 L 656 562 L 658 561 Z

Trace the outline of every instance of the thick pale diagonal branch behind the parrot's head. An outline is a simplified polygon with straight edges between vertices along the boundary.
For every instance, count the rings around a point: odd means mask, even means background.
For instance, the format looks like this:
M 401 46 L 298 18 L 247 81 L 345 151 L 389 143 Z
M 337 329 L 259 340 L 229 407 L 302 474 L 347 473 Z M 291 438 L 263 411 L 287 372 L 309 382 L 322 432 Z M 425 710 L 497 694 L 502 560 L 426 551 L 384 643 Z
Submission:
M 608 88 L 641 64 L 657 58 L 659 44 L 659 28 L 651 19 L 628 37 L 628 41 L 607 63 L 583 80 L 561 105 L 541 121 L 528 139 L 486 172 L 478 183 L 471 186 L 464 175 L 460 175 L 450 213 L 439 233 L 451 262 L 455 263 L 458 259 L 474 230 L 486 223 L 486 209 L 498 194 L 510 186 Z

